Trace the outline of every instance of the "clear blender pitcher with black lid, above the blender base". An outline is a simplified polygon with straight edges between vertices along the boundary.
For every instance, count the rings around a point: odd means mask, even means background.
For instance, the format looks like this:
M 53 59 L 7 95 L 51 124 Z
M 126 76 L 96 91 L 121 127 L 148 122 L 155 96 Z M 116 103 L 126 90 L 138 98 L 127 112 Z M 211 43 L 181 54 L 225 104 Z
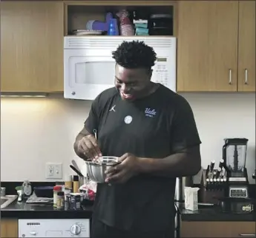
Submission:
M 244 177 L 246 167 L 246 138 L 224 139 L 223 160 L 229 177 Z

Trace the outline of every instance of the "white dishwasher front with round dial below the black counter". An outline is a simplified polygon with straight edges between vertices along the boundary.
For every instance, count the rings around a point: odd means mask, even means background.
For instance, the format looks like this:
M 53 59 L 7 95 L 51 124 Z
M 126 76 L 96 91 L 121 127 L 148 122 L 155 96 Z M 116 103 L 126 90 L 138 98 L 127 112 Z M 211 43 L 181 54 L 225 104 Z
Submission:
M 90 237 L 89 219 L 21 219 L 20 237 Z

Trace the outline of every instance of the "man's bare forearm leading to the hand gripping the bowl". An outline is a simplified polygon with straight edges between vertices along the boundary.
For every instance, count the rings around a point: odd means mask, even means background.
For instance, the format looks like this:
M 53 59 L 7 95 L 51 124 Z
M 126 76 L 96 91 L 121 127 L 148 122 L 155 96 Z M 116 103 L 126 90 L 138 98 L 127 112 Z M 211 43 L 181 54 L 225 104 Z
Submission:
M 163 177 L 186 177 L 201 169 L 199 153 L 177 153 L 162 159 L 141 158 L 139 171 Z

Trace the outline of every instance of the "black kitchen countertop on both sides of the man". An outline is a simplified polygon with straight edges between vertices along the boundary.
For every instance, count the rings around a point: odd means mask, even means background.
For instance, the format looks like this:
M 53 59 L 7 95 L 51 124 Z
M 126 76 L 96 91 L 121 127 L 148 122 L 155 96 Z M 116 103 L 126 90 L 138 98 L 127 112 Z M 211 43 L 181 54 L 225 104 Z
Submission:
M 182 221 L 255 221 L 256 213 L 253 214 L 229 214 L 222 213 L 217 206 L 206 208 L 199 206 L 198 211 L 188 211 L 183 203 L 176 203 Z M 82 206 L 81 210 L 58 210 L 53 205 L 38 205 L 14 202 L 1 209 L 2 218 L 18 219 L 91 219 L 93 206 Z

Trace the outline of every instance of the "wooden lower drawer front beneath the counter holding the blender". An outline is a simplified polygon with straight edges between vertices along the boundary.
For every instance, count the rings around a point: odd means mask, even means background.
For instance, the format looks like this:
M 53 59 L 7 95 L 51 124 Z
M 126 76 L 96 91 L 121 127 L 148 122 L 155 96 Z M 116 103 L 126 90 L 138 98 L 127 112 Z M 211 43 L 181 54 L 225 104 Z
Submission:
M 187 222 L 181 223 L 180 237 L 235 238 L 256 237 L 256 222 Z

